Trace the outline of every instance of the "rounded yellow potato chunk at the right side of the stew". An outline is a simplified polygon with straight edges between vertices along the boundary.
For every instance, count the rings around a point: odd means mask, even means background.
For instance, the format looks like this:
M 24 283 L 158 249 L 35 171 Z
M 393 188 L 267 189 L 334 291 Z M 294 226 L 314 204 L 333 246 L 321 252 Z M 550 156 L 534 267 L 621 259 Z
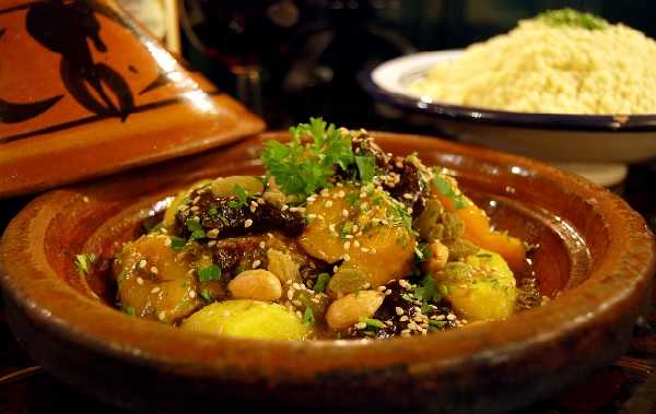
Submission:
M 481 249 L 465 262 L 450 262 L 434 275 L 445 286 L 456 312 L 469 320 L 493 320 L 513 314 L 515 277 L 503 258 Z

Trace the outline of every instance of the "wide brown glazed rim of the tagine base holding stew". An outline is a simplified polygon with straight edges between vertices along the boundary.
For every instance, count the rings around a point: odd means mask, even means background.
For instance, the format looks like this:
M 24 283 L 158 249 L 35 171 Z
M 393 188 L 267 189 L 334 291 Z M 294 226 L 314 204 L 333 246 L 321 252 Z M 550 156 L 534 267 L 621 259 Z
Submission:
M 280 139 L 281 133 L 259 139 Z M 403 140 L 413 149 L 461 153 L 464 145 L 414 135 L 377 134 L 383 144 Z M 255 140 L 258 140 L 257 138 Z M 257 141 L 256 141 L 257 142 Z M 236 147 L 253 145 L 249 140 Z M 604 218 L 607 251 L 594 263 L 589 277 L 557 300 L 504 321 L 477 324 L 427 336 L 385 341 L 278 342 L 180 334 L 176 329 L 122 315 L 66 285 L 48 265 L 43 240 L 66 203 L 78 200 L 86 188 L 51 191 L 35 199 L 9 225 L 0 245 L 2 287 L 32 323 L 56 331 L 66 341 L 81 343 L 104 355 L 133 364 L 159 367 L 181 377 L 225 377 L 242 383 L 303 385 L 336 371 L 375 371 L 403 367 L 412 378 L 430 378 L 434 371 L 476 371 L 484 365 L 501 367 L 507 360 L 528 360 L 542 355 L 544 369 L 557 369 L 544 357 L 553 344 L 564 346 L 574 332 L 589 332 L 589 341 L 602 340 L 605 326 L 632 321 L 648 297 L 655 269 L 653 235 L 642 217 L 619 197 L 574 175 L 524 157 L 466 147 L 468 156 L 495 165 L 517 166 L 546 177 L 562 194 L 575 193 Z M 225 153 L 238 153 L 233 146 Z M 243 151 L 243 150 L 242 150 Z M 45 206 L 57 205 L 51 210 Z M 42 244 L 39 244 L 39 241 Z M 51 300 L 57 296 L 57 300 Z M 536 323 L 538 322 L 538 323 Z M 630 331 L 630 326 L 625 328 Z M 577 344 L 572 344 L 575 353 Z M 604 348 L 604 346 L 600 346 Z M 589 344 L 581 350 L 588 350 Z M 587 351 L 586 351 L 587 352 Z M 600 359 L 616 357 L 602 350 Z M 375 357 L 372 357 L 375 355 Z M 585 358 L 585 355 L 575 355 Z M 481 363 L 481 364 L 479 364 Z M 429 386 L 430 387 L 430 386 Z

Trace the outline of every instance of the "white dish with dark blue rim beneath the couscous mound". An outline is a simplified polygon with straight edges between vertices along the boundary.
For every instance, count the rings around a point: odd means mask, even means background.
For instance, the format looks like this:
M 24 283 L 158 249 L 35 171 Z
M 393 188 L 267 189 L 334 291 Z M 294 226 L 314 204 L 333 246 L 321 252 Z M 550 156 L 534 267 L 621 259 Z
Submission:
M 525 114 L 449 105 L 409 92 L 431 68 L 461 54 L 426 51 L 389 60 L 368 73 L 365 87 L 380 102 L 424 115 L 437 130 L 462 142 L 549 162 L 584 163 L 576 170 L 589 178 L 601 175 L 599 182 L 623 178 L 624 164 L 656 157 L 656 114 Z

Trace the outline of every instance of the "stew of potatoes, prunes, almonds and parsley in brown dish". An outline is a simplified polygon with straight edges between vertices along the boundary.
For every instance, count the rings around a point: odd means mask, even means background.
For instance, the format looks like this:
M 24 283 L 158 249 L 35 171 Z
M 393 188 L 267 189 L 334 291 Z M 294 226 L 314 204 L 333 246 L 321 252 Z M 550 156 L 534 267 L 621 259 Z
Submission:
M 124 245 L 120 309 L 224 335 L 379 339 L 546 299 L 527 245 L 492 229 L 447 170 L 321 119 L 291 133 L 265 144 L 265 176 L 197 182 Z

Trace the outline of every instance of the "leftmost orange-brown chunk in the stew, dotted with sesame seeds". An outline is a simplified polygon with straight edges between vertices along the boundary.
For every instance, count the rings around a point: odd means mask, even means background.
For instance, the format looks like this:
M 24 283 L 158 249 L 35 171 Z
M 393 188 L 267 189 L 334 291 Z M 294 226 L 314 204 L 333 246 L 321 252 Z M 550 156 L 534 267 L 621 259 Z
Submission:
M 196 310 L 197 281 L 191 267 L 171 248 L 166 235 L 127 244 L 114 264 L 118 299 L 134 315 L 172 323 Z

